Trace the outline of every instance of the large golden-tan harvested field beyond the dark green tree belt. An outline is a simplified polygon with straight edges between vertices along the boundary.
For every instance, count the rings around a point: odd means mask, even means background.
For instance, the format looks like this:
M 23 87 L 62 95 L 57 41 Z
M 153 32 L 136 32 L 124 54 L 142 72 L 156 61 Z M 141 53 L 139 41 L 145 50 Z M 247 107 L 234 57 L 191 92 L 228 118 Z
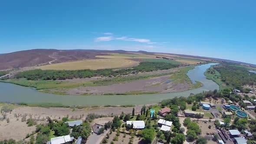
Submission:
M 114 68 L 127 68 L 138 65 L 130 59 L 89 59 L 77 62 L 65 62 L 53 65 L 44 65 L 38 67 L 39 69 L 52 69 L 52 70 L 77 70 L 77 69 L 114 69 Z

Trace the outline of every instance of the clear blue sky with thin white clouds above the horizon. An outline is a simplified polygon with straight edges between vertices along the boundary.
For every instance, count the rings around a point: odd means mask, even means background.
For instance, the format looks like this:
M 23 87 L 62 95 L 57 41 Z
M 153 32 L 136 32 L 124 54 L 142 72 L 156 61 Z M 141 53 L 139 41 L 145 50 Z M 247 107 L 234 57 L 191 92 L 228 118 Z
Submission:
M 0 53 L 124 49 L 256 64 L 255 0 L 5 0 Z

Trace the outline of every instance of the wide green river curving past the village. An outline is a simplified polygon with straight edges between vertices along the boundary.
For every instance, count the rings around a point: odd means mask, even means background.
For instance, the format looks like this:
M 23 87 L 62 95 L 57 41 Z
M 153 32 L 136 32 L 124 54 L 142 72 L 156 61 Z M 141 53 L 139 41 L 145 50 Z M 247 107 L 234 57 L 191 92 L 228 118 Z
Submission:
M 187 97 L 190 93 L 197 94 L 203 91 L 219 89 L 219 86 L 212 80 L 206 79 L 204 72 L 215 63 L 198 65 L 190 70 L 187 75 L 191 81 L 199 81 L 203 84 L 183 92 L 172 92 L 166 94 L 145 94 L 145 95 L 54 95 L 38 92 L 34 88 L 22 87 L 10 83 L 0 82 L 0 102 L 8 103 L 61 103 L 63 105 L 141 105 L 158 103 L 167 98 L 179 96 Z

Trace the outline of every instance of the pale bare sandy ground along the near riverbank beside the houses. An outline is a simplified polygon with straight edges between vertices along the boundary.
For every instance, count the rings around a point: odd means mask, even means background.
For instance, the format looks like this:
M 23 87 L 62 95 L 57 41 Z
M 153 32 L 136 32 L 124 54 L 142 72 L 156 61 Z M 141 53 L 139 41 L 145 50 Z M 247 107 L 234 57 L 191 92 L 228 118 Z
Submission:
M 0 105 L 1 107 L 2 105 Z M 140 113 L 142 105 L 138 105 L 135 107 L 135 113 Z M 7 118 L 10 119 L 10 123 L 7 123 L 6 120 L 0 121 L 0 141 L 4 139 L 13 138 L 15 140 L 22 140 L 26 137 L 26 134 L 32 133 L 35 131 L 35 126 L 27 127 L 26 122 L 21 122 L 22 116 L 17 118 L 14 117 L 14 114 L 17 115 L 27 115 L 26 119 L 34 118 L 38 119 L 37 124 L 45 123 L 46 117 L 49 116 L 50 118 L 59 119 L 66 117 L 69 115 L 69 118 L 76 118 L 84 120 L 86 115 L 90 113 L 95 113 L 98 115 L 119 115 L 121 112 L 124 111 L 125 113 L 131 113 L 132 108 L 119 108 L 119 107 L 109 107 L 109 108 L 83 108 L 83 109 L 76 109 L 72 111 L 71 108 L 37 108 L 37 107 L 16 107 L 13 109 L 11 113 L 7 113 Z M 84 115 L 84 116 L 82 116 Z M 2 115 L 1 115 L 2 116 Z M 82 118 L 80 118 L 80 116 Z M 43 119 L 45 119 L 43 121 Z M 97 119 L 95 122 L 104 123 L 111 120 L 111 118 L 102 118 Z

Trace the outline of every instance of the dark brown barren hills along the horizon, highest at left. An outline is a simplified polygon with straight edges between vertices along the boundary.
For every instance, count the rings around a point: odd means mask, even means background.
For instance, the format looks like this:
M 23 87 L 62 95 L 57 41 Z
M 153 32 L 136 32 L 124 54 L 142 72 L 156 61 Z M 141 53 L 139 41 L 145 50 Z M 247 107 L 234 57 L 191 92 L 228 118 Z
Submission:
M 19 52 L 11 52 L 0 54 L 0 70 L 19 69 L 24 67 L 32 67 L 50 63 L 76 61 L 82 59 L 98 59 L 95 56 L 108 55 L 108 53 L 127 53 L 125 50 L 95 50 L 95 49 L 31 49 Z M 155 52 L 138 51 L 139 53 L 154 55 Z M 165 53 L 166 54 L 166 53 Z M 256 67 L 254 64 L 245 62 L 236 62 L 226 59 L 208 58 L 202 56 L 189 56 L 181 54 L 171 54 L 177 57 L 187 57 L 195 59 L 210 59 L 217 62 L 230 62 L 235 64 L 249 65 Z

